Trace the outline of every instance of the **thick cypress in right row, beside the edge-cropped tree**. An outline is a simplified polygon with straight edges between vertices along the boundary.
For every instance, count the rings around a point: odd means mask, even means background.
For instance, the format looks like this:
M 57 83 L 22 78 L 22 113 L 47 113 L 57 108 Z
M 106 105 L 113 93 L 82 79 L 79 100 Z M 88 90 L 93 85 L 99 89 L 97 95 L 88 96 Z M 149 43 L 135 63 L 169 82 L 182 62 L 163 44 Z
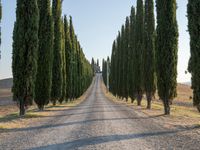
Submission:
M 170 100 L 176 96 L 178 25 L 176 0 L 157 0 L 156 68 L 158 95 L 165 114 L 170 114 Z

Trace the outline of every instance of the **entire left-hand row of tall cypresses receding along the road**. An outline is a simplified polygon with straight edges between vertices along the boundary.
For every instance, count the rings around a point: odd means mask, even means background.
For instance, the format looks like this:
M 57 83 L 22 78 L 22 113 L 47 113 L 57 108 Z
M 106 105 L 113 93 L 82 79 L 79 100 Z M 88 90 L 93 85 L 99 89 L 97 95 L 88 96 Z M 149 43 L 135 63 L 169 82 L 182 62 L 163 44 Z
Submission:
M 40 110 L 50 101 L 73 100 L 92 81 L 74 32 L 72 17 L 62 17 L 62 1 L 17 0 L 13 31 L 13 99 L 20 115 L 33 100 Z

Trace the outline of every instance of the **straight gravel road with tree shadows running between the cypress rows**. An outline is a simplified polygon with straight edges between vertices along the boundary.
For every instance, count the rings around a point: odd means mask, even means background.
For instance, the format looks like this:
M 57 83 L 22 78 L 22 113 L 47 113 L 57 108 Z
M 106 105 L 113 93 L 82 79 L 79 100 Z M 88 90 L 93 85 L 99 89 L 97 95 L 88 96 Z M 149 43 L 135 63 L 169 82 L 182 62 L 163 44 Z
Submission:
M 97 75 L 87 99 L 31 127 L 0 131 L 0 149 L 146 150 L 200 149 L 200 128 L 168 129 L 159 116 L 109 101 Z

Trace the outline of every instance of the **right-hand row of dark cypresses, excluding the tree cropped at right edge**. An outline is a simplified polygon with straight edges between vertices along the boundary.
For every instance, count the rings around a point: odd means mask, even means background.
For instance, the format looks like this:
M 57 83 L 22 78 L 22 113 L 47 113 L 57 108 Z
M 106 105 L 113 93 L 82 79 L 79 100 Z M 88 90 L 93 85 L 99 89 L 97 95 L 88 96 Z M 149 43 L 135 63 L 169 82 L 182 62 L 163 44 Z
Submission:
M 157 0 L 156 6 L 156 30 L 153 0 L 137 0 L 137 9 L 131 8 L 113 42 L 110 91 L 121 99 L 137 99 L 138 105 L 146 94 L 150 109 L 157 87 L 165 114 L 170 114 L 177 84 L 177 5 L 176 0 Z

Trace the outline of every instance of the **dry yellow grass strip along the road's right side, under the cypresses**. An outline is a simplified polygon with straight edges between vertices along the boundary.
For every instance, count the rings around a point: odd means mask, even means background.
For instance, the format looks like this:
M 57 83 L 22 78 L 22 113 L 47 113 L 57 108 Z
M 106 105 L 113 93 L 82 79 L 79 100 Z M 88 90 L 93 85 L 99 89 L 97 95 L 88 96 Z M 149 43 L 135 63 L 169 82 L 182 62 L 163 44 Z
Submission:
M 102 90 L 105 94 L 105 96 L 118 104 L 123 104 L 128 107 L 132 107 L 134 110 L 137 110 L 139 112 L 142 112 L 147 117 L 157 117 L 158 121 L 163 122 L 165 126 L 175 127 L 175 126 L 200 126 L 200 113 L 196 110 L 195 107 L 190 106 L 184 106 L 184 105 L 171 105 L 171 115 L 165 116 L 164 114 L 164 107 L 162 101 L 154 100 L 152 101 L 152 108 L 150 110 L 146 109 L 147 101 L 146 99 L 142 100 L 142 105 L 137 106 L 137 101 L 135 100 L 133 103 L 131 103 L 131 99 L 128 99 L 128 102 L 125 100 L 118 99 L 115 97 L 112 93 L 108 92 L 104 83 L 102 82 Z M 178 93 L 181 93 L 179 97 L 177 98 L 179 102 L 188 102 L 192 103 L 191 100 L 189 100 L 191 91 L 187 93 L 188 86 L 185 86 L 186 88 L 178 88 Z M 184 96 L 183 96 L 184 95 Z M 184 100 L 181 101 L 180 97 L 184 97 Z M 188 100 L 187 100 L 188 98 Z

